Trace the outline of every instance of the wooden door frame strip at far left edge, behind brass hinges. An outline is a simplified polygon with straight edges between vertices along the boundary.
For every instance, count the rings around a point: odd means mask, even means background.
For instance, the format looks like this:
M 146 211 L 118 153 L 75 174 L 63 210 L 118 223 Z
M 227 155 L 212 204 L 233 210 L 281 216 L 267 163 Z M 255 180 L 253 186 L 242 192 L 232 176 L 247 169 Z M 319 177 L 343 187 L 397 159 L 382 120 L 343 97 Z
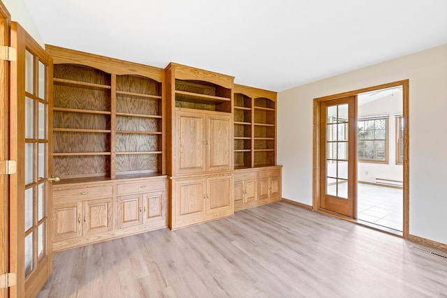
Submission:
M 10 20 L 11 16 L 0 1 L 1 45 L 10 45 Z M 0 61 L 0 161 L 9 159 L 9 62 Z M 9 177 L 0 174 L 0 274 L 9 271 Z M 8 290 L 0 290 L 0 298 L 8 297 Z

